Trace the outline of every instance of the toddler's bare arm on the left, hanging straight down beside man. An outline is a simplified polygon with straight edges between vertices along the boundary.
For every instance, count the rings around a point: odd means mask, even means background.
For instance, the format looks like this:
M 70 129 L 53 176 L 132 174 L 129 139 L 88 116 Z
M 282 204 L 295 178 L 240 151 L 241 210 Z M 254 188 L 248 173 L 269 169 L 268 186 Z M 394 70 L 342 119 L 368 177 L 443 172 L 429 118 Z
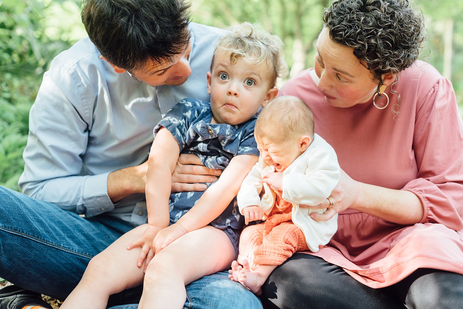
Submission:
M 148 227 L 143 236 L 132 242 L 127 249 L 142 247 L 137 265 L 141 266 L 148 256 L 152 259 L 153 240 L 164 227 L 169 226 L 169 196 L 171 191 L 171 177 L 180 154 L 177 140 L 164 128 L 156 134 L 148 158 L 148 172 L 146 174 L 146 208 L 148 210 Z M 148 264 L 148 263 L 146 263 Z

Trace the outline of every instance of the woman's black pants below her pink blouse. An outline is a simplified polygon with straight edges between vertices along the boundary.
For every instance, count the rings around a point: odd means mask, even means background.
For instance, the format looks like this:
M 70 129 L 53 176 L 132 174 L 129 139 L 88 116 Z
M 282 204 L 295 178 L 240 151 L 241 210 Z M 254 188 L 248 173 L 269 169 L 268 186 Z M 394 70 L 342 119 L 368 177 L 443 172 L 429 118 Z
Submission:
M 341 267 L 295 253 L 263 285 L 265 309 L 463 308 L 463 275 L 418 269 L 393 286 L 372 289 Z

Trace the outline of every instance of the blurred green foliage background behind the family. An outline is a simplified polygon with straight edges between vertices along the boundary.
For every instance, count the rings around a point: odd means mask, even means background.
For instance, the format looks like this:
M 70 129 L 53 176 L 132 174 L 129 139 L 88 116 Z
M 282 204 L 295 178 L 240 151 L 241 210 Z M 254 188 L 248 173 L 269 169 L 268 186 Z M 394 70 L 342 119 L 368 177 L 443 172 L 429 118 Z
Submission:
M 85 37 L 80 0 L 0 0 L 0 185 L 19 190 L 28 112 L 51 59 Z M 193 21 L 225 27 L 257 22 L 282 37 L 290 76 L 312 66 L 329 0 L 192 0 Z M 423 57 L 463 95 L 462 1 L 416 0 L 426 16 Z M 449 37 L 450 36 L 450 40 Z M 449 44 L 450 43 L 450 44 Z

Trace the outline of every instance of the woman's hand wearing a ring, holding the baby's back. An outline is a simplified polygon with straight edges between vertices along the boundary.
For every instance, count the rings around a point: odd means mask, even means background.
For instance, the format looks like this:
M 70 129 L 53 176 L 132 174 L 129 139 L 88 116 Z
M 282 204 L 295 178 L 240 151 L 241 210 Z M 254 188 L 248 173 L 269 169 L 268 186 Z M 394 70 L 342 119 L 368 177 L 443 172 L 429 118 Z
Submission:
M 310 217 L 315 221 L 328 221 L 335 214 L 344 211 L 354 205 L 360 195 L 360 183 L 353 180 L 347 175 L 344 170 L 341 170 L 341 179 L 338 185 L 333 189 L 328 199 L 333 203 L 330 207 L 330 202 L 326 199 L 323 203 L 311 208 L 327 208 L 323 214 L 312 213 Z

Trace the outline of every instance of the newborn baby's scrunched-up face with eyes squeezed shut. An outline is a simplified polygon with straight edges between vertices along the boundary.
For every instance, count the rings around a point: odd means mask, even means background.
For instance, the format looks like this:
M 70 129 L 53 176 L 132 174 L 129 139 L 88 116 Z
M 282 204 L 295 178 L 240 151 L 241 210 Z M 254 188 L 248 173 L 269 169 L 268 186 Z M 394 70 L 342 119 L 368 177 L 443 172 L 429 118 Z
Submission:
M 255 138 L 261 158 L 265 163 L 272 165 L 277 172 L 286 170 L 304 152 L 301 150 L 300 143 L 296 139 L 275 142 L 265 136 L 255 135 Z

